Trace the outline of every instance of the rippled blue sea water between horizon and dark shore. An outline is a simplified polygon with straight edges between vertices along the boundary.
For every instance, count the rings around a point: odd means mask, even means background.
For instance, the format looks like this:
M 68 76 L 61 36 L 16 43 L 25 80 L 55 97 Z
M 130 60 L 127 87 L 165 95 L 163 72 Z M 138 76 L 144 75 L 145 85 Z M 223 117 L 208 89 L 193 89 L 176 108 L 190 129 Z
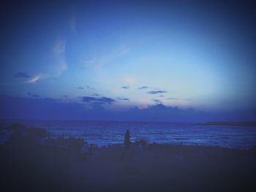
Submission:
M 18 121 L 26 126 L 47 128 L 51 137 L 83 137 L 89 144 L 99 147 L 121 144 L 129 129 L 133 142 L 182 145 L 210 145 L 230 148 L 256 146 L 256 127 L 200 126 L 193 123 L 121 122 L 121 121 Z M 4 122 L 10 124 L 11 122 Z M 3 125 L 3 123 L 1 123 Z

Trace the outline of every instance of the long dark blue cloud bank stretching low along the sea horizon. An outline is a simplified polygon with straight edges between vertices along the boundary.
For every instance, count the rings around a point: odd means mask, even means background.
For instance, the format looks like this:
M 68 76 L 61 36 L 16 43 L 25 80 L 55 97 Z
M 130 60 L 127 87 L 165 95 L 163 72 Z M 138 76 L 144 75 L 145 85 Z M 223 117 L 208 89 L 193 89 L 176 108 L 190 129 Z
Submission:
M 89 99 L 90 100 L 90 99 Z M 104 100 L 104 99 L 103 99 Z M 108 100 L 108 99 L 107 99 Z M 105 110 L 102 101 L 91 101 L 91 110 L 84 104 L 55 99 L 34 99 L 0 95 L 0 117 L 6 119 L 41 120 L 145 120 L 169 122 L 253 121 L 256 110 L 238 112 L 200 112 L 168 107 L 163 104 L 134 107 L 124 112 Z

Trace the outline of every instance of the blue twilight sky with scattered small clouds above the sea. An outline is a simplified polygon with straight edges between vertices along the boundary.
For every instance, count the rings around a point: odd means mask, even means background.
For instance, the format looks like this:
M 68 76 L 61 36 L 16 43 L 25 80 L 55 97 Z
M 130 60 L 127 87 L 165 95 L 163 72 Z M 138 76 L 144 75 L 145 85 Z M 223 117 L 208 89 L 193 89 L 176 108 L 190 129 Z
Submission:
M 155 105 L 246 117 L 256 109 L 255 21 L 249 1 L 5 1 L 0 118 L 47 118 L 24 109 L 45 102 L 72 109 L 56 118 L 125 119 Z

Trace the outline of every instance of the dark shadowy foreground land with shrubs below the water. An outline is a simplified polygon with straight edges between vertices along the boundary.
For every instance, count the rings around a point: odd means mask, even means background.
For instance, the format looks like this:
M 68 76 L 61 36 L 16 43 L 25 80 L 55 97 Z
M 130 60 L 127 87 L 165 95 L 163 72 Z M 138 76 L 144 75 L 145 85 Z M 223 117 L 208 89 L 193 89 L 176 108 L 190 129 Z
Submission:
M 0 145 L 3 191 L 256 191 L 256 148 L 97 147 L 15 124 Z M 2 191 L 2 190 L 1 190 Z

